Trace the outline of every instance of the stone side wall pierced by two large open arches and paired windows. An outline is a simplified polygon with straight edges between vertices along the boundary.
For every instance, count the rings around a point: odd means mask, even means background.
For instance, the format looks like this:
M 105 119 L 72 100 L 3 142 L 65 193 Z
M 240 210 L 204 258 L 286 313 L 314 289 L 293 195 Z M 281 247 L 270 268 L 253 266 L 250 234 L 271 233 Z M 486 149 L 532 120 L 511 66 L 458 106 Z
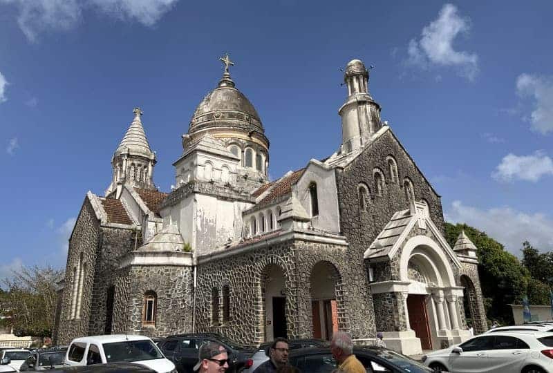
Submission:
M 200 265 L 196 331 L 218 332 L 242 343 L 265 341 L 265 280 L 270 267 L 277 265 L 285 278 L 288 337 L 312 337 L 310 275 L 317 262 L 324 261 L 334 269 L 339 328 L 356 338 L 374 334 L 366 275 L 351 265 L 347 252 L 343 246 L 294 240 Z M 212 290 L 221 294 L 224 286 L 229 286 L 230 320 L 212 325 Z

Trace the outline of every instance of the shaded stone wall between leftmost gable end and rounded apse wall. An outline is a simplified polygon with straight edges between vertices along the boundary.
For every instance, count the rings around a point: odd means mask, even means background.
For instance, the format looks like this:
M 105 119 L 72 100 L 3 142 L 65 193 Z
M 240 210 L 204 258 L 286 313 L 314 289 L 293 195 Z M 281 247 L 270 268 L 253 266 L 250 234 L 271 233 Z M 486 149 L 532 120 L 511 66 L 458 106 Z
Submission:
M 88 332 L 104 334 L 106 324 L 111 324 L 111 314 L 107 314 L 109 288 L 115 284 L 115 271 L 119 267 L 120 258 L 140 247 L 142 234 L 132 229 L 117 229 L 102 227 L 100 233 L 101 245 L 98 247 L 97 260 L 94 269 L 94 287 L 91 300 L 91 316 Z M 137 240 L 137 242 L 135 242 Z

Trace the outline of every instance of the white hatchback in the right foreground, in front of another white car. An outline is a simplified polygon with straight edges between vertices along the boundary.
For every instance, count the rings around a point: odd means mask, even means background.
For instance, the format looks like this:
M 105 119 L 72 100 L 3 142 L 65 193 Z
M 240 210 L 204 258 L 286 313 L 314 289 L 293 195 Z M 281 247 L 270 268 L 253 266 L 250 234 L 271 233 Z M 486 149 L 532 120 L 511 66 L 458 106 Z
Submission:
M 435 372 L 550 373 L 553 372 L 553 334 L 480 334 L 460 345 L 424 355 L 422 362 Z

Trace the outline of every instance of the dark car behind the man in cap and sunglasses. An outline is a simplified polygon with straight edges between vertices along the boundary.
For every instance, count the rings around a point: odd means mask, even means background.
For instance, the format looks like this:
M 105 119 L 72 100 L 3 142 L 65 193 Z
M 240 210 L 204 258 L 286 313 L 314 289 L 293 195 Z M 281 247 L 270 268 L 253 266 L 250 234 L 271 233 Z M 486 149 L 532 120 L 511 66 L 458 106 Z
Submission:
M 227 372 L 242 372 L 252 366 L 252 355 L 256 349 L 231 341 L 221 334 L 195 333 L 168 336 L 160 342 L 160 348 L 165 356 L 172 361 L 179 373 L 191 373 L 198 362 L 198 349 L 203 343 L 213 341 L 221 343 L 229 355 Z

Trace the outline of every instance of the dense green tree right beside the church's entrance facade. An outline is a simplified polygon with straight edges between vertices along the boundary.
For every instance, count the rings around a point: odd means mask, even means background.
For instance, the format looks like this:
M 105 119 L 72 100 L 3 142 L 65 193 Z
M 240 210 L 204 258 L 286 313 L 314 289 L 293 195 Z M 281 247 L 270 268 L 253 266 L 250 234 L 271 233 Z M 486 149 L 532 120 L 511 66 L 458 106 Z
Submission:
M 445 238 L 451 247 L 462 230 L 478 248 L 478 275 L 488 318 L 513 323 L 509 304 L 521 303 L 525 294 L 533 304 L 548 304 L 550 287 L 532 278 L 531 272 L 516 256 L 485 232 L 467 224 L 446 223 Z

